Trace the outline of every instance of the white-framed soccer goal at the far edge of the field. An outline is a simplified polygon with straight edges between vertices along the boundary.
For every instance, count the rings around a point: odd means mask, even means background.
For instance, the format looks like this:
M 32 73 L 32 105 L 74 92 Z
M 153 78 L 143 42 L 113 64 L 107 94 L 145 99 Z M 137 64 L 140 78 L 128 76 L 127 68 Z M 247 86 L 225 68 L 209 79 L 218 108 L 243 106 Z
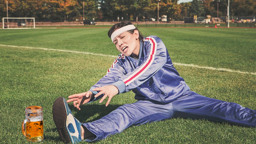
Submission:
M 3 29 L 35 28 L 35 18 L 3 18 Z

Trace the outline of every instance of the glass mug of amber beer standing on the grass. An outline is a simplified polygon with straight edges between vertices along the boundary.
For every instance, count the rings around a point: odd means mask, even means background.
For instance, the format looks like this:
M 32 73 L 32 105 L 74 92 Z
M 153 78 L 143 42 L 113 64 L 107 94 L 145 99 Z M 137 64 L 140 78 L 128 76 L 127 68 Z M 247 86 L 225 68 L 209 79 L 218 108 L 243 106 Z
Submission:
M 44 140 L 43 108 L 29 106 L 25 109 L 26 119 L 22 122 L 22 133 L 28 141 Z

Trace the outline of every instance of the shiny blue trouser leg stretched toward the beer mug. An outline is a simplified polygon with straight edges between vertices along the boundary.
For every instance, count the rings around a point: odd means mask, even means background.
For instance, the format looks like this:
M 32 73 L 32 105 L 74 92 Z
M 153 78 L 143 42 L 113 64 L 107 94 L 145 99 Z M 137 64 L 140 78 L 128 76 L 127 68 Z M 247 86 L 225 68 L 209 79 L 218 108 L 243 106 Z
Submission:
M 172 104 L 159 104 L 147 100 L 139 100 L 125 104 L 109 113 L 107 116 L 83 125 L 94 135 L 94 140 L 105 139 L 110 134 L 120 133 L 131 125 L 160 121 L 173 117 Z M 94 141 L 86 140 L 86 141 Z

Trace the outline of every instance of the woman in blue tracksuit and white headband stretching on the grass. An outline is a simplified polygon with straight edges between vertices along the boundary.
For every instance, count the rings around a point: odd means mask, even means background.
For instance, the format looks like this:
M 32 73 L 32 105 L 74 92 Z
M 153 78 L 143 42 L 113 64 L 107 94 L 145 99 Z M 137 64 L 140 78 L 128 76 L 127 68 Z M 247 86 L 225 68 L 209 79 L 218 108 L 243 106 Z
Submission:
M 53 120 L 65 142 L 105 139 L 131 125 L 183 117 L 256 126 L 256 111 L 241 105 L 201 96 L 190 91 L 173 67 L 167 49 L 157 36 L 143 37 L 132 23 L 123 21 L 108 31 L 108 36 L 121 52 L 106 76 L 88 92 L 69 96 L 74 107 L 100 99 L 100 103 L 117 94 L 133 91 L 132 104 L 125 104 L 107 116 L 91 123 L 80 123 L 64 98 L 53 104 Z

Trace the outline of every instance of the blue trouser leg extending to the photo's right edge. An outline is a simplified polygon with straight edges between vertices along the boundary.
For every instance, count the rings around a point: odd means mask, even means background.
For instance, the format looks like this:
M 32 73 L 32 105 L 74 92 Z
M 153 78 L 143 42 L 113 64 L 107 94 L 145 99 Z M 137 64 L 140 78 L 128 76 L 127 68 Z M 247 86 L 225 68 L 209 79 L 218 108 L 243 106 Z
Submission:
M 207 119 L 228 122 L 248 127 L 256 127 L 256 111 L 244 108 L 233 102 L 226 102 L 204 97 L 188 91 L 172 101 L 173 117 Z

